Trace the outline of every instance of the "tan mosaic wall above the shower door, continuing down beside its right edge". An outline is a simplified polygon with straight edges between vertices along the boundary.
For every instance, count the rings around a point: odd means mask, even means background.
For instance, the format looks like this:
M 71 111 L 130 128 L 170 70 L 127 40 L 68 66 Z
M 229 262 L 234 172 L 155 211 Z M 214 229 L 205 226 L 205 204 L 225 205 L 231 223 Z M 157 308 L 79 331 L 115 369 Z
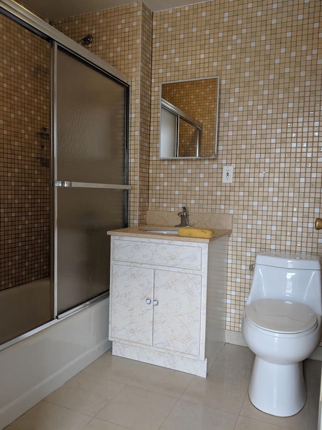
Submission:
M 151 22 L 151 12 L 142 2 L 136 2 L 51 23 L 77 42 L 92 34 L 93 43 L 87 49 L 132 79 L 129 140 L 129 183 L 132 186 L 129 194 L 130 225 L 145 222 L 147 205 Z M 142 160 L 140 166 L 139 154 Z M 139 195 L 143 196 L 143 200 L 139 200 Z

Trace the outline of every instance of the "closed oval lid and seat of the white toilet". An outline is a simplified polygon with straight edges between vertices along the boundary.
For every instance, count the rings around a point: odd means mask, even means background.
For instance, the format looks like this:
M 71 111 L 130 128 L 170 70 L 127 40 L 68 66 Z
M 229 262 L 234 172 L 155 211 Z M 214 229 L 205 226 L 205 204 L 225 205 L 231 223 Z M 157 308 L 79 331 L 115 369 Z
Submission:
M 246 305 L 246 320 L 259 329 L 294 335 L 314 331 L 317 327 L 315 312 L 307 305 L 298 302 L 261 299 Z

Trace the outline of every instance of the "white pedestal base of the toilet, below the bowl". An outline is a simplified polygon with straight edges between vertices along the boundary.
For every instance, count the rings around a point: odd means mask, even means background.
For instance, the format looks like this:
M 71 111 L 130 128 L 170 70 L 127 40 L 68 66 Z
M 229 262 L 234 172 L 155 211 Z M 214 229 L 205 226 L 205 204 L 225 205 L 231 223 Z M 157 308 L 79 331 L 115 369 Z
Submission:
M 295 415 L 306 400 L 302 362 L 279 365 L 256 356 L 248 392 L 253 405 L 263 412 Z

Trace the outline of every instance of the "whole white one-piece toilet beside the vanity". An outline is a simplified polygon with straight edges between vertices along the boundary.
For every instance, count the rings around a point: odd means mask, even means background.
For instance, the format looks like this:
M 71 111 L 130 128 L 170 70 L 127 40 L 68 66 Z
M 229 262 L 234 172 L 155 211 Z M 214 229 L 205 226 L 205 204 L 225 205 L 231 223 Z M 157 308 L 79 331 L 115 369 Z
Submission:
M 294 415 L 306 400 L 302 361 L 321 336 L 320 260 L 258 254 L 241 330 L 256 354 L 249 396 L 263 412 Z

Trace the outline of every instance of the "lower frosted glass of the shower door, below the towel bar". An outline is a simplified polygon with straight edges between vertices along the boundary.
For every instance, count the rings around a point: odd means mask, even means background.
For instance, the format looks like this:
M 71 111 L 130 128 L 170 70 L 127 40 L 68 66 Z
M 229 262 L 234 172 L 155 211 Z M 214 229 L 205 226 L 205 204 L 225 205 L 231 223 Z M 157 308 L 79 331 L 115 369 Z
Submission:
M 57 189 L 58 314 L 109 290 L 110 236 L 124 226 L 126 191 Z

